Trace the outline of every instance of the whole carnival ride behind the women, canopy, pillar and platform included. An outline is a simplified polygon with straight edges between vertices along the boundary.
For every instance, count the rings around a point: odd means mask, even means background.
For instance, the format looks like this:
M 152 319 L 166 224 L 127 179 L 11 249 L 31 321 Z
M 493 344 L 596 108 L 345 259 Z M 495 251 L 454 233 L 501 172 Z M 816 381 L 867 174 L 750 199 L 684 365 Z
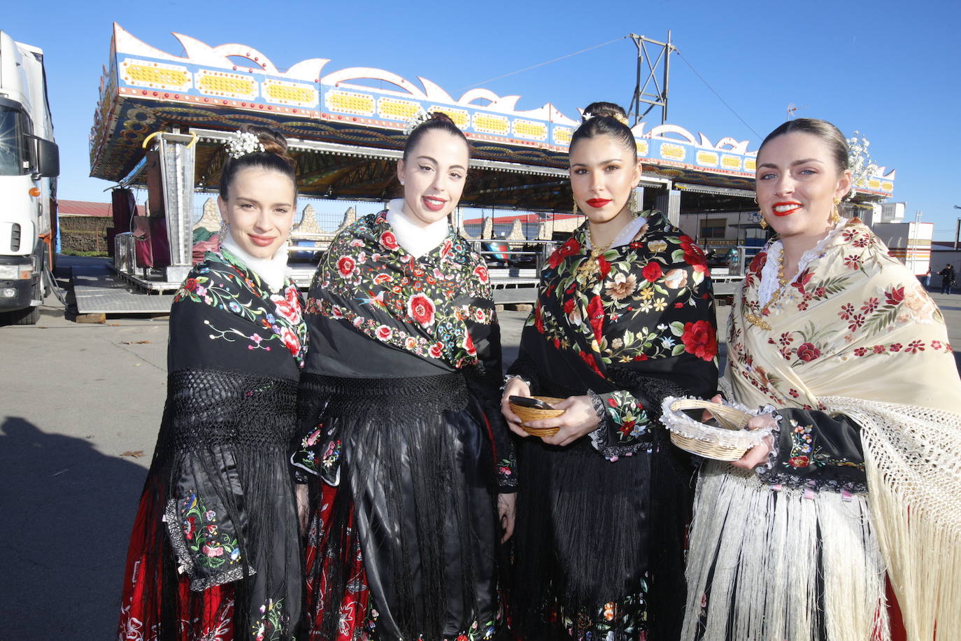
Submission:
M 161 254 L 164 245 L 169 248 L 168 259 L 154 269 L 137 264 L 138 241 L 128 233 L 132 223 L 117 221 L 114 268 L 140 288 L 168 290 L 185 278 L 192 263 L 195 194 L 217 190 L 223 142 L 245 123 L 287 136 L 302 195 L 385 201 L 399 190 L 395 161 L 407 121 L 420 110 L 444 111 L 475 149 L 461 208 L 502 210 L 502 216 L 539 212 L 541 251 L 547 251 L 554 213 L 570 210 L 566 155 L 579 119 L 550 103 L 519 110 L 520 96 L 484 88 L 455 98 L 421 77 L 415 83 L 370 67 L 329 71 L 329 59 L 281 70 L 252 47 L 211 47 L 174 37 L 185 55 L 168 54 L 113 25 L 90 133 L 90 175 L 147 187 L 154 224 L 139 221 L 140 227 L 165 239 L 155 246 Z M 676 222 L 684 210 L 756 210 L 755 152 L 748 151 L 747 140 L 712 142 L 677 125 L 649 127 L 643 121 L 632 131 L 644 164 L 645 207 L 666 211 Z M 894 172 L 870 177 L 859 194 L 886 198 L 893 180 Z M 308 284 L 312 270 L 312 263 L 295 266 L 295 281 Z M 532 300 L 536 276 L 535 268 L 492 270 L 498 301 Z

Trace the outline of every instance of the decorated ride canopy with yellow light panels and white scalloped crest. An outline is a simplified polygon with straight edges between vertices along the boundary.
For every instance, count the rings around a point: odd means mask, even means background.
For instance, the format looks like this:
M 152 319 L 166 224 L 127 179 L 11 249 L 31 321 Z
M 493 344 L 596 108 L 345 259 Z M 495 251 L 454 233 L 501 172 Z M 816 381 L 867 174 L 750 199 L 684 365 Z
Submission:
M 156 49 L 113 25 L 110 61 L 90 134 L 90 175 L 142 183 L 142 144 L 158 131 L 198 136 L 194 182 L 215 189 L 222 141 L 244 123 L 277 128 L 290 141 L 299 189 L 306 195 L 382 200 L 397 189 L 409 119 L 444 111 L 475 148 L 473 176 L 462 204 L 474 207 L 566 210 L 571 203 L 567 147 L 579 120 L 553 105 L 519 111 L 519 96 L 475 88 L 455 99 L 431 81 L 410 82 L 368 67 L 327 71 L 327 59 L 278 69 L 241 44 L 211 47 L 174 34 L 185 55 Z M 237 60 L 247 62 L 246 65 Z M 371 81 L 379 86 L 367 86 Z M 712 142 L 676 125 L 633 127 L 645 184 L 684 185 L 690 194 L 743 198 L 753 188 L 748 141 Z M 883 168 L 877 173 L 883 174 Z M 886 198 L 894 171 L 868 177 L 863 198 Z

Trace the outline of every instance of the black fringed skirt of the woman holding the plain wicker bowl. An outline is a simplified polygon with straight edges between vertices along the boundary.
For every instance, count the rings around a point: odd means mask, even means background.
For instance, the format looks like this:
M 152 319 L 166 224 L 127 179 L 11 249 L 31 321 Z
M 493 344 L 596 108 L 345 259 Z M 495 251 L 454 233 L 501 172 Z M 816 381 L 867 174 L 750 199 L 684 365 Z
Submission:
M 692 471 L 666 432 L 613 462 L 586 436 L 563 448 L 529 437 L 519 455 L 509 603 L 520 638 L 678 639 Z

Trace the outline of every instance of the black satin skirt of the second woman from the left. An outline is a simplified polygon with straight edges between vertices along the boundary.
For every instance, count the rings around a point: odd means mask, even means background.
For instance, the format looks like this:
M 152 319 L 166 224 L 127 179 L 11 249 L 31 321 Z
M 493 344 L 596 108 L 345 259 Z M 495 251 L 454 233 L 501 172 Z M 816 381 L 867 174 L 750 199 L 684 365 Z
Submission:
M 322 403 L 313 410 L 322 451 L 337 453 L 322 472 L 337 491 L 316 555 L 339 562 L 314 563 L 308 580 L 319 638 L 337 637 L 339 604 L 357 589 L 355 537 L 370 592 L 368 635 L 493 637 L 503 619 L 493 448 L 463 376 L 308 374 L 305 394 Z

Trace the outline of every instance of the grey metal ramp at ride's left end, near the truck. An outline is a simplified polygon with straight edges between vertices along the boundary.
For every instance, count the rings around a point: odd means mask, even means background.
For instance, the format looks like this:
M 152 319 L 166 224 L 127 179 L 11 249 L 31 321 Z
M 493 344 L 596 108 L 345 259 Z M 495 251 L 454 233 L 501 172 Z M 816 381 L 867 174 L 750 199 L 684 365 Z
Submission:
M 170 313 L 174 294 L 145 293 L 120 279 L 104 261 L 71 267 L 77 313 L 163 314 Z

